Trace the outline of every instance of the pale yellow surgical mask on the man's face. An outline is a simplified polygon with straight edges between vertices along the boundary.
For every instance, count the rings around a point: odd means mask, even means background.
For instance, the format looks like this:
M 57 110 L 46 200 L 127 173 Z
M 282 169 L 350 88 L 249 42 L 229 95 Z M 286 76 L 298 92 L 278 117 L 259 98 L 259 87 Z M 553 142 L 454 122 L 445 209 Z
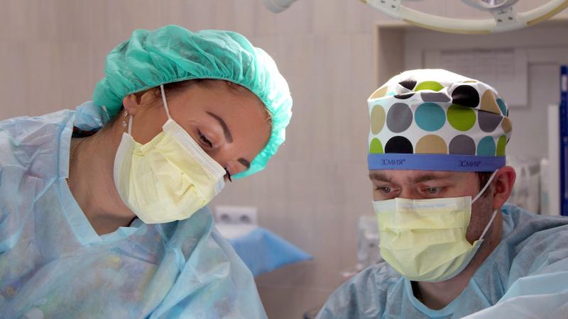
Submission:
M 411 281 L 444 281 L 459 274 L 474 257 L 497 211 L 470 244 L 466 239 L 471 203 L 484 193 L 456 198 L 373 201 L 378 220 L 381 257 Z

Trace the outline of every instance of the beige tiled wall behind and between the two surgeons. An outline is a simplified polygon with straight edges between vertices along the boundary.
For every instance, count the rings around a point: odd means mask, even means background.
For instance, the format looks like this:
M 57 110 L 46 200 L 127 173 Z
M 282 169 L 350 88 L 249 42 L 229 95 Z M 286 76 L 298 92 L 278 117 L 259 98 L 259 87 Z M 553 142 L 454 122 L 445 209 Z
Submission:
M 481 14 L 457 2 L 416 5 Z M 90 99 L 104 56 L 135 28 L 175 23 L 243 33 L 288 79 L 294 116 L 268 169 L 227 187 L 213 205 L 258 206 L 261 225 L 314 255 L 257 280 L 270 318 L 301 318 L 355 263 L 356 220 L 371 213 L 366 97 L 376 89 L 378 20 L 386 18 L 356 0 L 299 0 L 278 15 L 261 0 L 0 0 L 0 119 Z

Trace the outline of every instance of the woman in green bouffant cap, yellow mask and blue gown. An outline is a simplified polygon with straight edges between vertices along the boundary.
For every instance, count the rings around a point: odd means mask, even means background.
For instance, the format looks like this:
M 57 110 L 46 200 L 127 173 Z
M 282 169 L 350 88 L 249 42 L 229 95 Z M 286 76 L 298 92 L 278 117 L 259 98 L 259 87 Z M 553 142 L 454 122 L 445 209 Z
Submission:
M 0 122 L 2 318 L 266 318 L 205 206 L 260 171 L 292 99 L 238 33 L 136 30 L 94 101 Z

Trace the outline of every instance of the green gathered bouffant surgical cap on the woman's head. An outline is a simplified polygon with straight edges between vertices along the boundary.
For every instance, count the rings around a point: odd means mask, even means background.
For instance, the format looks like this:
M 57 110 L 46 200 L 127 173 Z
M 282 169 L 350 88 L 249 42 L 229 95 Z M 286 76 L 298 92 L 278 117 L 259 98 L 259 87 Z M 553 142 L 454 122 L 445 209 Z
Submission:
M 110 116 L 120 111 L 124 96 L 188 79 L 222 79 L 256 94 L 271 113 L 271 137 L 251 167 L 235 178 L 266 167 L 284 142 L 292 117 L 288 83 L 275 62 L 243 35 L 231 31 L 194 33 L 180 26 L 135 30 L 107 55 L 104 74 L 94 88 L 93 101 L 106 107 Z

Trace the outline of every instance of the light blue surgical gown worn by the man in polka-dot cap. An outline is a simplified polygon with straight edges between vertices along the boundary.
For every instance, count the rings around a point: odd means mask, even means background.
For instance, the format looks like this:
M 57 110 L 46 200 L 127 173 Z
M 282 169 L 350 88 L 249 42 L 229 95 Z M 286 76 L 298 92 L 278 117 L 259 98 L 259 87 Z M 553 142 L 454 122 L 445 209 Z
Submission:
M 383 262 L 339 286 L 317 318 L 462 318 L 493 305 L 488 315 L 475 318 L 547 318 L 557 308 L 521 305 L 568 305 L 568 218 L 509 204 L 501 211 L 501 243 L 446 307 L 427 308 L 414 297 L 410 281 Z

